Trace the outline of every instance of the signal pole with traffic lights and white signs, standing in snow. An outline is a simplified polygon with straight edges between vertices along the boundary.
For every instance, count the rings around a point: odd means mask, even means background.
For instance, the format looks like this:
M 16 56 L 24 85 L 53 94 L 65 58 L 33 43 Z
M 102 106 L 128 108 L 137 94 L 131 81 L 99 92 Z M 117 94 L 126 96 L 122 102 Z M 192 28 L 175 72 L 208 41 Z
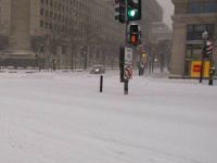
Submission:
M 115 0 L 115 20 L 126 25 L 125 48 L 120 48 L 119 54 L 120 82 L 124 83 L 125 95 L 128 95 L 128 84 L 132 76 L 132 49 L 128 47 L 137 46 L 141 35 L 138 25 L 129 25 L 129 22 L 141 20 L 141 0 Z

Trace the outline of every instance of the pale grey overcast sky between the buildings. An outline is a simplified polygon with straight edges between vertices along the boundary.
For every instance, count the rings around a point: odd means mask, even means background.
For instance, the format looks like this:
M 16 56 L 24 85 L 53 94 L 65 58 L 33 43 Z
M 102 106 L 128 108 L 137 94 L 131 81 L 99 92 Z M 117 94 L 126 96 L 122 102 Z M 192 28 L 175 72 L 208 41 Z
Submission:
M 174 4 L 171 3 L 171 0 L 157 0 L 157 2 L 162 5 L 164 10 L 164 22 L 168 24 L 171 28 L 170 16 L 174 14 Z

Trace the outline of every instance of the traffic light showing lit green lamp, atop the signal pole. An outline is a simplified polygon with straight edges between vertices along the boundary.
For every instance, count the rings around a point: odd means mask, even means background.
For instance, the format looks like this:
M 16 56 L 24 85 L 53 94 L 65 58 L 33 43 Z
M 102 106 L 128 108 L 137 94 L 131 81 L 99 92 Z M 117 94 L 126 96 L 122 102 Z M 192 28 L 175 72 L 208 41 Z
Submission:
M 141 0 L 127 0 L 128 21 L 139 21 L 142 18 Z

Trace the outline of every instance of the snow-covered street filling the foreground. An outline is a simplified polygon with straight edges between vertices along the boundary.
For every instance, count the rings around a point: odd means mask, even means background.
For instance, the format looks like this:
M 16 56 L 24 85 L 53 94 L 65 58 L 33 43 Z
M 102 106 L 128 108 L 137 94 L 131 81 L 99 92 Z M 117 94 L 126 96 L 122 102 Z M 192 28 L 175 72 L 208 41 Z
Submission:
M 0 163 L 216 163 L 217 82 L 0 74 Z

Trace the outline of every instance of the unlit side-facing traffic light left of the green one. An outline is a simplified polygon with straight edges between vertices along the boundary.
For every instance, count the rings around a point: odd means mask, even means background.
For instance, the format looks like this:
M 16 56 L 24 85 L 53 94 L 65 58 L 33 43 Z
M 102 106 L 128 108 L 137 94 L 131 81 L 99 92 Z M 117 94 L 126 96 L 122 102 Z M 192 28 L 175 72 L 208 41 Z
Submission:
M 126 18 L 126 4 L 125 0 L 115 0 L 115 20 L 118 20 L 120 23 L 125 23 Z

